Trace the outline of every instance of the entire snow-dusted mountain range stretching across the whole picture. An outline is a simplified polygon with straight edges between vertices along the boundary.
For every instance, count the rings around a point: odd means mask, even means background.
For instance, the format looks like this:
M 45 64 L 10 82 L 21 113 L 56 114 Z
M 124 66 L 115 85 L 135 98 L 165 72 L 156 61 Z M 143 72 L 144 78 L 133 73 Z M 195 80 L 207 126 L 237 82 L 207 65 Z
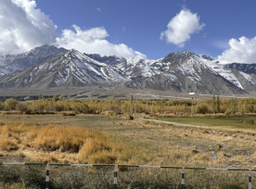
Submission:
M 158 60 L 83 54 L 44 45 L 0 56 L 0 90 L 104 86 L 198 94 L 256 92 L 256 64 L 219 64 L 183 50 Z

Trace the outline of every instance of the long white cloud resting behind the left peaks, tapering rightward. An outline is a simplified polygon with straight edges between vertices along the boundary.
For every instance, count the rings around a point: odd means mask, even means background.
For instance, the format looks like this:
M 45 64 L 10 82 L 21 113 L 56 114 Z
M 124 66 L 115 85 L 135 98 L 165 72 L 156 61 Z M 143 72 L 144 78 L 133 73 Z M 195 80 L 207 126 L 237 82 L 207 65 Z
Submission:
M 104 27 L 95 27 L 89 30 L 81 30 L 73 25 L 73 30 L 63 30 L 61 37 L 56 38 L 59 47 L 77 49 L 87 54 L 118 55 L 125 57 L 137 57 L 147 59 L 145 54 L 134 51 L 127 45 L 109 43 L 105 38 L 108 32 Z

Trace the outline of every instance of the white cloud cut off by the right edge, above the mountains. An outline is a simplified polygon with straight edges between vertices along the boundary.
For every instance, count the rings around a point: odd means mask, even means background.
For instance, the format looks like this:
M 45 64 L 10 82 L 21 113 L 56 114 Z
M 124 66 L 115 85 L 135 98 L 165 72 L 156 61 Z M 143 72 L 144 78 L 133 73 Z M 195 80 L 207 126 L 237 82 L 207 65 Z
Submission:
M 218 55 L 220 63 L 256 63 L 256 37 L 240 37 L 239 40 L 231 38 L 230 49 Z

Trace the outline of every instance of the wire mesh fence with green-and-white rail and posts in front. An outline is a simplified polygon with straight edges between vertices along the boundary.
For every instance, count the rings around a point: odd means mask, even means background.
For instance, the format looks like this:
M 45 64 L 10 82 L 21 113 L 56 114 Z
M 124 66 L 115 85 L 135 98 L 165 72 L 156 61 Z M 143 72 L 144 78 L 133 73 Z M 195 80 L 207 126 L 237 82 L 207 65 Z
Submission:
M 256 169 L 0 163 L 0 188 L 251 189 Z M 255 187 L 256 188 L 256 187 Z

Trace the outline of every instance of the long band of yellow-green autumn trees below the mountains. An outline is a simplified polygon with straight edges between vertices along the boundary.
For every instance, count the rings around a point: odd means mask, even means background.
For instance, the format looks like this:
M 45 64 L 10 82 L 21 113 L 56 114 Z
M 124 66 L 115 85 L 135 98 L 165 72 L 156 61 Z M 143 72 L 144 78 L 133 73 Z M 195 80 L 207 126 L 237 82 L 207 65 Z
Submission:
M 256 100 L 247 99 L 220 99 L 212 96 L 207 100 L 66 100 L 61 97 L 18 102 L 13 99 L 0 102 L 0 111 L 17 110 L 20 112 L 62 112 L 100 113 L 113 111 L 119 113 L 192 113 L 192 114 L 236 114 L 256 113 Z

